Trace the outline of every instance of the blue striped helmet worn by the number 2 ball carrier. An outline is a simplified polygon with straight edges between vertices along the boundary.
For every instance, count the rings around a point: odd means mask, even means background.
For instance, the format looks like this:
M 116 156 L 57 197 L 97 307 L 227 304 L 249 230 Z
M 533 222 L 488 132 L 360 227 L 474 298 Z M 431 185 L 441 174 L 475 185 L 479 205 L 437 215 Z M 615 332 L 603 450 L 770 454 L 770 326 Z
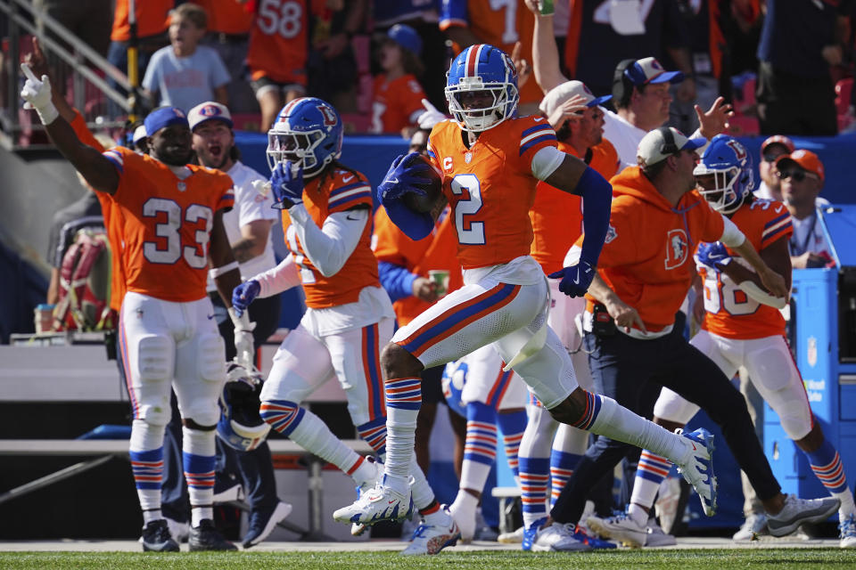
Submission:
M 492 102 L 465 105 L 463 94 L 487 91 Z M 449 111 L 465 131 L 481 133 L 517 112 L 517 69 L 508 54 L 492 45 L 476 44 L 458 53 L 446 74 Z

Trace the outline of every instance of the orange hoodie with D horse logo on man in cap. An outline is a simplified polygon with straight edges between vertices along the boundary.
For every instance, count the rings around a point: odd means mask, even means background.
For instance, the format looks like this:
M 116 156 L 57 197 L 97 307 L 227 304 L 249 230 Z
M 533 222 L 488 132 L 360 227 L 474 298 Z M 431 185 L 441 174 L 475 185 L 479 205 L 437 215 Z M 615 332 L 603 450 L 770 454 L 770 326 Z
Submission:
M 693 282 L 695 247 L 719 240 L 725 223 L 696 191 L 672 208 L 639 167 L 625 168 L 610 183 L 613 205 L 597 272 L 638 311 L 648 331 L 663 330 L 674 323 Z M 591 311 L 594 297 L 586 298 Z

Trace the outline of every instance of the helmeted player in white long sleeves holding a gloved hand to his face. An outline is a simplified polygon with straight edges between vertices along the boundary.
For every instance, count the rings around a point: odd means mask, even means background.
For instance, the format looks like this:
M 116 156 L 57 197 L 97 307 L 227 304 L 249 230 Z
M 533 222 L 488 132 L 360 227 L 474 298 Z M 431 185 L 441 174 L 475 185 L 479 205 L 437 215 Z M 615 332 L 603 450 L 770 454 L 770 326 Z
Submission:
M 386 403 L 380 350 L 392 336 L 394 313 L 370 247 L 372 188 L 366 176 L 337 160 L 342 130 L 339 113 L 315 97 L 295 99 L 280 111 L 268 133 L 268 164 L 291 254 L 235 289 L 233 303 L 243 310 L 255 297 L 302 284 L 307 310 L 274 356 L 260 395 L 261 417 L 342 469 L 367 493 L 383 474 L 380 465 L 360 457 L 300 405 L 335 377 L 348 396 L 359 436 L 383 459 Z M 409 460 L 413 501 L 404 508 L 409 512 L 416 505 L 423 524 L 403 553 L 436 554 L 457 541 L 457 526 L 434 499 L 412 448 Z M 364 525 L 354 525 L 351 532 L 364 530 Z

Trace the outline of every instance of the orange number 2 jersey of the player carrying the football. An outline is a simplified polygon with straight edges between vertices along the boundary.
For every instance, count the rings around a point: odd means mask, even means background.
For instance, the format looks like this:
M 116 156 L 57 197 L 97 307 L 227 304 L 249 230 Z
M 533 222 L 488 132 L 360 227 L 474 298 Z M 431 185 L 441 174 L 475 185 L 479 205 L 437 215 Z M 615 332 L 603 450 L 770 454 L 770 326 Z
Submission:
M 462 131 L 440 121 L 428 137 L 428 155 L 443 173 L 443 193 L 452 208 L 457 257 L 464 269 L 505 264 L 528 256 L 529 210 L 535 201 L 532 157 L 556 146 L 546 118 L 508 118 L 484 131 L 467 149 Z

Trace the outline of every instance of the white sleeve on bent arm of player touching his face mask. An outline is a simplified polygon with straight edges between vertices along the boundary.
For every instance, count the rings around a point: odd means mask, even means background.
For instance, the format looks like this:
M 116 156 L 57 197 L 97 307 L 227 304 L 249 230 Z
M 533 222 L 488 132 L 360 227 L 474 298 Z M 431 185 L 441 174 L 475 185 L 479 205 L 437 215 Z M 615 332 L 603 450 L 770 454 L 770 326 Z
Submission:
M 323 228 L 315 224 L 302 204 L 289 208 L 288 215 L 309 261 L 322 275 L 330 277 L 339 273 L 357 248 L 371 213 L 368 208 L 335 212 L 327 216 Z

